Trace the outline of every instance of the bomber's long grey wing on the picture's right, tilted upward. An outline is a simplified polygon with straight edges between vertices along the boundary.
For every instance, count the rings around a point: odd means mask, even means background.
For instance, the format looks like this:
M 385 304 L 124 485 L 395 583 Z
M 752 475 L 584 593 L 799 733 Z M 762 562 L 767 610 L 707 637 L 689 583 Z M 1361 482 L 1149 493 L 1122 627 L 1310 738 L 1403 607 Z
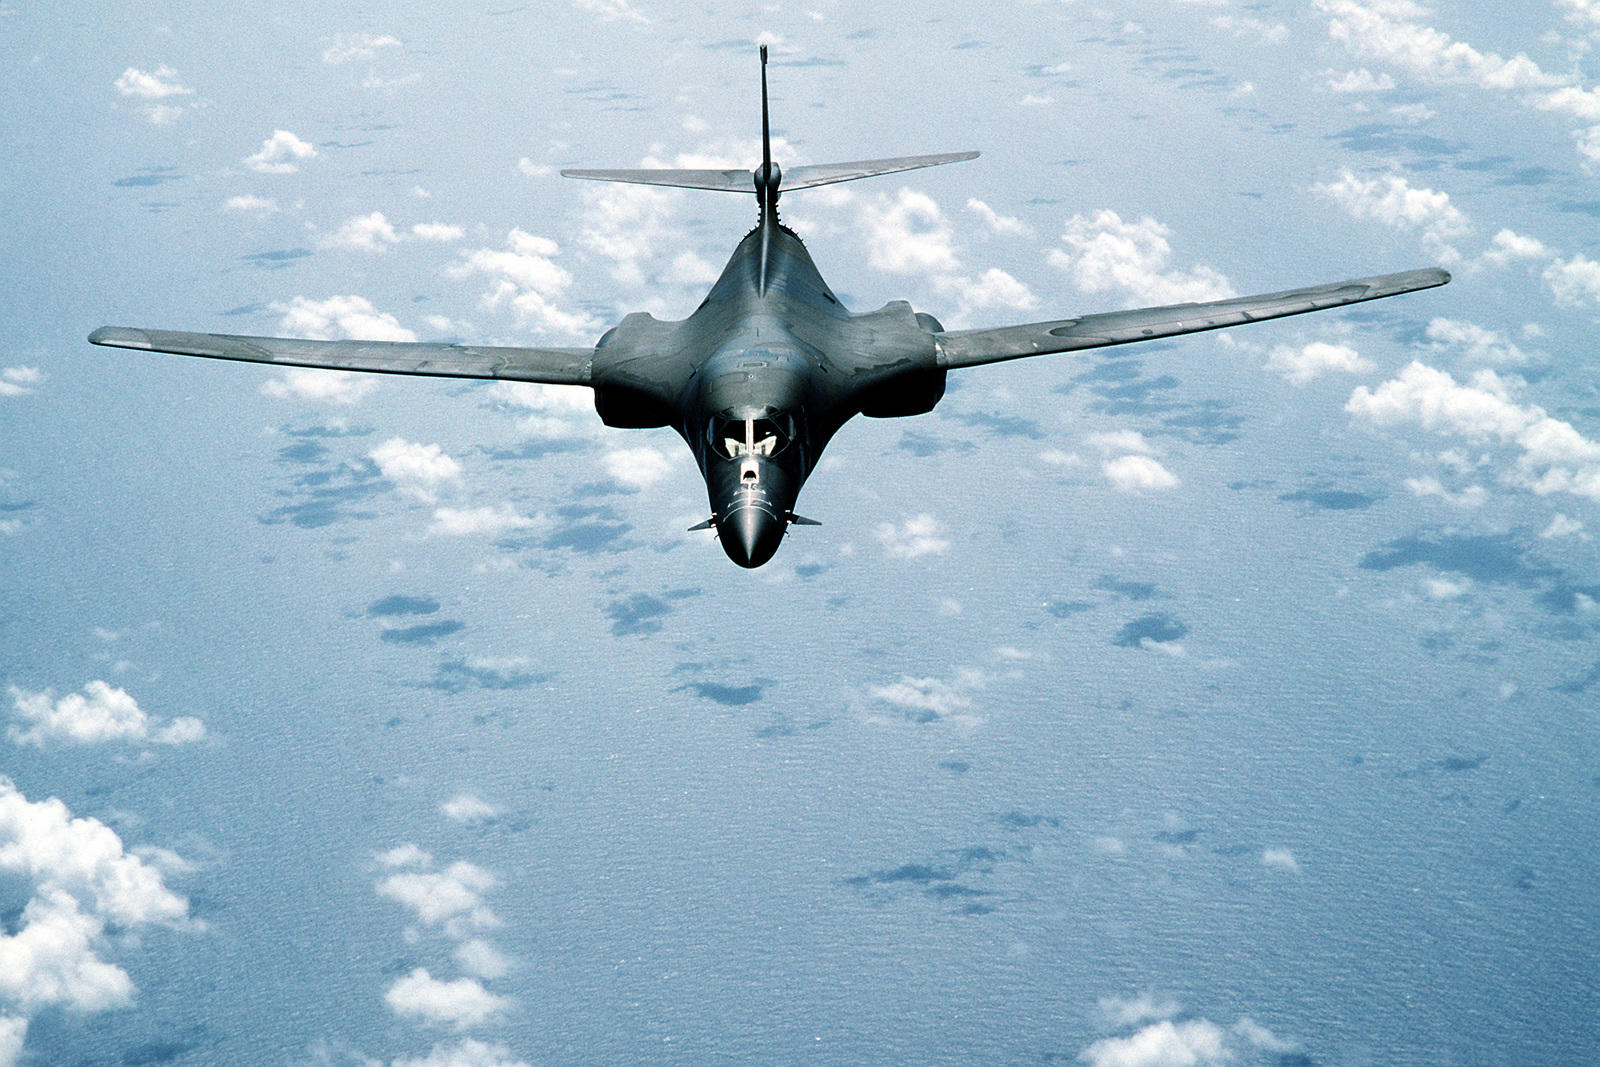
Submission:
M 1450 282 L 1450 272 L 1430 267 L 1384 274 L 1373 278 L 1314 285 L 1304 290 L 1264 293 L 1261 296 L 1237 296 L 1227 301 L 1205 304 L 1173 304 L 1170 307 L 1141 307 L 1131 312 L 1106 312 L 1062 318 L 1058 322 L 1029 323 L 1026 326 L 1000 326 L 995 330 L 952 330 L 936 333 L 934 344 L 939 366 L 979 366 L 1002 360 L 1018 360 L 1046 352 L 1074 352 L 1099 349 L 1110 344 L 1173 338 L 1182 333 L 1221 330 L 1262 318 L 1302 315 L 1341 304 L 1376 301 L 1382 296 L 1430 290 Z

